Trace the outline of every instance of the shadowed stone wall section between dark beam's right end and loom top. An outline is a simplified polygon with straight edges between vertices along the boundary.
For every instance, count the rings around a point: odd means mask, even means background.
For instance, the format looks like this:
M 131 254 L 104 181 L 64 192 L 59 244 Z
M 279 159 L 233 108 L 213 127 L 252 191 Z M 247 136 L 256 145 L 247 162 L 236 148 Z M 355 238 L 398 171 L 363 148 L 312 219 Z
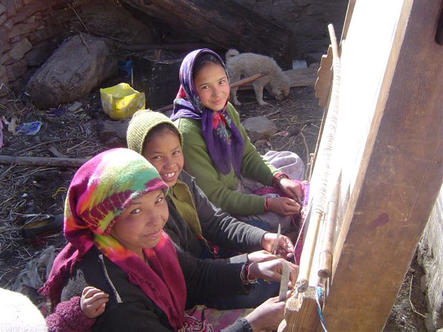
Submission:
M 329 46 L 327 25 L 334 24 L 337 39 L 345 21 L 347 0 L 235 0 L 273 23 L 291 30 L 293 59 L 320 61 Z

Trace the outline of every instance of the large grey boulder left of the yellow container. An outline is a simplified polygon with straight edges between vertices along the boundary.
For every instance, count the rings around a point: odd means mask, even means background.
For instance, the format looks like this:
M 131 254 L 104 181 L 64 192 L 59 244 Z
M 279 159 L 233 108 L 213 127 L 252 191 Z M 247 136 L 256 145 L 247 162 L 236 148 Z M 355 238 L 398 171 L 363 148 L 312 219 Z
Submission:
M 38 107 L 79 100 L 117 69 L 106 39 L 82 34 L 67 39 L 30 78 L 26 89 Z

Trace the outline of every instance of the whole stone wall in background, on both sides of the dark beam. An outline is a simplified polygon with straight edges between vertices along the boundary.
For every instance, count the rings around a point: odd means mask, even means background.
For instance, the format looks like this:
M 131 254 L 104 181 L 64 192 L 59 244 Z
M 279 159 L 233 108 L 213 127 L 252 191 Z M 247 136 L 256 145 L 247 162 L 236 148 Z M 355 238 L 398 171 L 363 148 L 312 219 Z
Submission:
M 291 30 L 291 56 L 308 64 L 327 50 L 329 22 L 340 36 L 347 8 L 347 0 L 235 1 Z M 84 24 L 130 44 L 159 42 L 150 19 L 141 23 L 116 0 L 0 0 L 0 100 L 21 91 L 64 37 L 84 31 Z

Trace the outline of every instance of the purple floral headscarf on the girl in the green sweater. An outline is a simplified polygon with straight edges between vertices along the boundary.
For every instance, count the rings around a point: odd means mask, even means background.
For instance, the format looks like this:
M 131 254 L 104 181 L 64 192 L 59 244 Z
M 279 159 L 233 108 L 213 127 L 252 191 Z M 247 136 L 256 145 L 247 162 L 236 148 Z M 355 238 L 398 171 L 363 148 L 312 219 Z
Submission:
M 174 100 L 174 111 L 171 120 L 178 118 L 191 118 L 201 120 L 201 132 L 206 142 L 206 148 L 215 167 L 222 174 L 228 174 L 231 166 L 239 176 L 242 169 L 243 138 L 234 122 L 226 112 L 226 105 L 221 110 L 211 110 L 201 103 L 195 91 L 192 69 L 199 55 L 209 53 L 216 57 L 225 72 L 226 67 L 217 53 L 208 48 L 194 50 L 183 59 L 180 67 L 180 89 Z M 228 73 L 226 72 L 226 77 Z

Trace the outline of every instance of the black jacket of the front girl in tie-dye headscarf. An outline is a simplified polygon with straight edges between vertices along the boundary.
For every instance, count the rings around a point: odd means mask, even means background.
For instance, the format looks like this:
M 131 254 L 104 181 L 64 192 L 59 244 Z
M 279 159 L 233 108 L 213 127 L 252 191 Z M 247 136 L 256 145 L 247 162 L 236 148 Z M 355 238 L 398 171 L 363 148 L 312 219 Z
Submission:
M 195 259 L 188 253 L 179 251 L 179 262 L 183 269 L 188 297 L 204 297 L 241 293 L 245 291 L 239 278 L 243 264 L 228 264 L 217 260 L 223 266 L 219 275 L 210 272 L 209 261 Z M 109 294 L 105 313 L 98 316 L 93 331 L 172 331 L 165 313 L 147 297 L 138 286 L 131 284 L 127 274 L 100 251 L 92 248 L 78 262 L 62 291 L 62 301 L 81 296 L 83 288 L 94 286 Z M 228 331 L 250 331 L 251 326 L 244 320 L 237 320 Z

